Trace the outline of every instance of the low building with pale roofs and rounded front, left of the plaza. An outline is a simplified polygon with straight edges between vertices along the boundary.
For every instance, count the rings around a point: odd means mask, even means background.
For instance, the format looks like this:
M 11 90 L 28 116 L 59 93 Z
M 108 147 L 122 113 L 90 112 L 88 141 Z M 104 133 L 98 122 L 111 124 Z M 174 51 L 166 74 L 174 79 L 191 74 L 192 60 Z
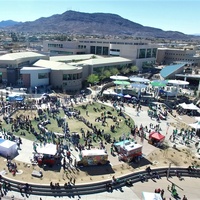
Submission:
M 18 52 L 0 56 L 0 82 L 32 89 L 51 85 L 63 91 L 78 91 L 90 74 L 102 68 L 130 65 L 132 60 L 122 57 L 84 54 L 49 58 L 33 52 Z

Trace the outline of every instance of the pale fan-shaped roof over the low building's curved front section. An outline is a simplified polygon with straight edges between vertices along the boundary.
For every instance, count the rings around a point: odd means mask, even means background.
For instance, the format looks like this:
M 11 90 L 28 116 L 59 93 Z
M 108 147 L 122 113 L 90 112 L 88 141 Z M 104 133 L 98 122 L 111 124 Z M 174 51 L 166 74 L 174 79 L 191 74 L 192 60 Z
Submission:
M 44 68 L 50 68 L 52 70 L 73 70 L 78 69 L 75 66 L 68 65 L 62 62 L 54 62 L 49 60 L 38 60 L 36 63 L 33 64 L 33 66 L 36 67 L 44 67 Z

